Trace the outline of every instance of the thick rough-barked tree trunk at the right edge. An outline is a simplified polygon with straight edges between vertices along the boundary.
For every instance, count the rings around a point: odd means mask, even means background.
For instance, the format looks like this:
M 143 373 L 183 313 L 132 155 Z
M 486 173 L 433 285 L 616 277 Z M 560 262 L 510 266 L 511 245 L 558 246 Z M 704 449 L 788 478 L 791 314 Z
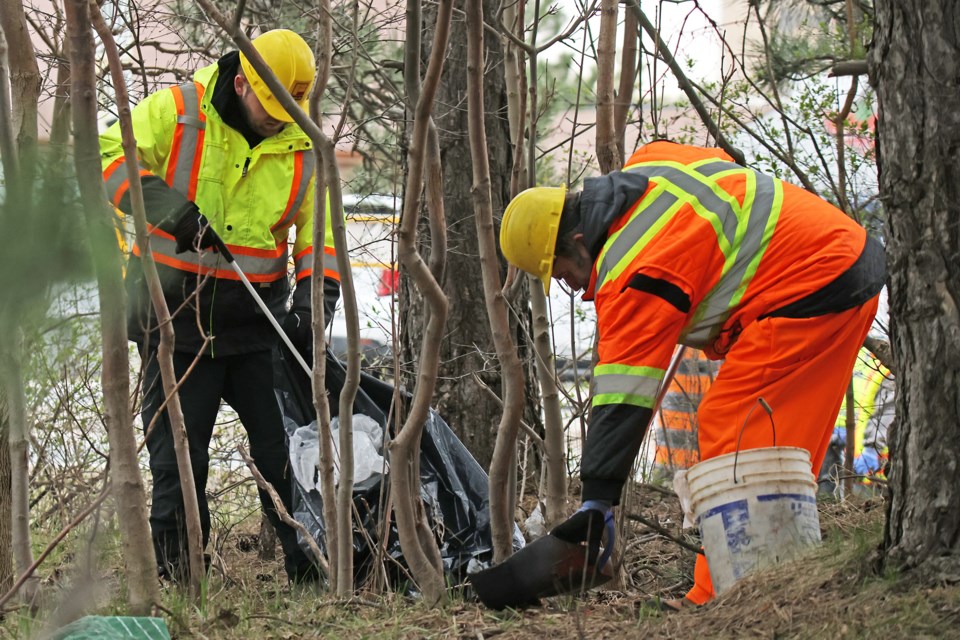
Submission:
M 960 42 L 947 0 L 875 3 L 868 63 L 880 104 L 897 428 L 883 551 L 960 581 Z

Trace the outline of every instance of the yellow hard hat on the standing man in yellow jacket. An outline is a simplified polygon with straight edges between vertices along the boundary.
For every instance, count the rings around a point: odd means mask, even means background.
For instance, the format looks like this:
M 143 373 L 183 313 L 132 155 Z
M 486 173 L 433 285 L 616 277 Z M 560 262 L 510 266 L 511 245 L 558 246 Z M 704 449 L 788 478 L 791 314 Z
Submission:
M 317 63 L 313 58 L 310 45 L 289 29 L 274 29 L 254 38 L 253 48 L 263 57 L 264 62 L 276 74 L 280 84 L 290 92 L 293 99 L 302 109 L 306 109 L 310 88 L 317 73 Z M 240 66 L 243 69 L 243 75 L 247 77 L 247 82 L 250 83 L 250 88 L 253 89 L 270 117 L 283 122 L 293 122 L 293 117 L 280 105 L 270 91 L 270 87 L 242 51 Z

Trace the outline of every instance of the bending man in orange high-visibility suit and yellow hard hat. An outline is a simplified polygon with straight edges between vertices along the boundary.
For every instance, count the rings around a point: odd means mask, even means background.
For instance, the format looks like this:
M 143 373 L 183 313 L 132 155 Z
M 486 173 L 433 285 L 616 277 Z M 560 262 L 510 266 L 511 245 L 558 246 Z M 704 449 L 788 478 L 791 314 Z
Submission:
M 517 195 L 500 248 L 597 313 L 583 506 L 555 538 L 599 544 L 677 344 L 724 361 L 697 412 L 701 459 L 771 446 L 770 417 L 754 410 L 768 406 L 776 444 L 806 449 L 819 471 L 886 277 L 883 246 L 842 211 L 720 149 L 655 141 L 577 193 Z M 700 556 L 693 589 L 669 606 L 713 597 Z

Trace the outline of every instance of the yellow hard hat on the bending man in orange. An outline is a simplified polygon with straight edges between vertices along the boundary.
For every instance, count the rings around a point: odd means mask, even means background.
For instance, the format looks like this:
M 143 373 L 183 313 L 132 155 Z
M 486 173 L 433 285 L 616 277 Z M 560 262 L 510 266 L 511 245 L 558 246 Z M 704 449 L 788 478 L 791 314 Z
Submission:
M 540 278 L 550 293 L 554 249 L 567 187 L 533 187 L 510 201 L 500 222 L 500 250 L 507 262 Z

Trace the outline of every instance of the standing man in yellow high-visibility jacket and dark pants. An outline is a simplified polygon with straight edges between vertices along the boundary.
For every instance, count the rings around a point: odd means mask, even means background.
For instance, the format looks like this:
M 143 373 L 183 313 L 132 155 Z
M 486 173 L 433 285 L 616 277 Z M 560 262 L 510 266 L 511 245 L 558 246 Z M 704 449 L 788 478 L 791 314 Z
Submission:
M 253 48 L 305 108 L 316 74 L 310 46 L 296 33 L 276 29 L 255 38 Z M 273 378 L 279 336 L 222 252 L 212 247 L 218 240 L 226 245 L 291 342 L 309 357 L 311 282 L 322 279 L 327 322 L 340 295 L 332 215 L 326 216 L 324 273 L 315 274 L 312 144 L 240 52 L 225 54 L 189 82 L 147 96 L 133 109 L 132 119 L 150 249 L 174 314 L 177 378 L 189 370 L 179 391 L 180 404 L 206 544 L 211 521 L 205 491 L 207 451 L 223 401 L 246 429 L 257 467 L 287 510 L 291 508 L 284 425 Z M 109 198 L 129 214 L 119 124 L 101 135 L 100 149 Z M 145 367 L 143 424 L 156 419 L 147 436 L 153 476 L 150 524 L 160 575 L 183 580 L 188 569 L 183 496 L 170 422 L 166 412 L 158 415 L 165 402 L 157 364 L 159 335 L 142 251 L 139 246 L 133 249 L 126 284 L 128 331 Z M 292 305 L 291 262 L 297 283 Z M 290 580 L 317 580 L 317 569 L 297 544 L 296 531 L 280 521 L 265 492 L 261 500 L 283 545 Z

